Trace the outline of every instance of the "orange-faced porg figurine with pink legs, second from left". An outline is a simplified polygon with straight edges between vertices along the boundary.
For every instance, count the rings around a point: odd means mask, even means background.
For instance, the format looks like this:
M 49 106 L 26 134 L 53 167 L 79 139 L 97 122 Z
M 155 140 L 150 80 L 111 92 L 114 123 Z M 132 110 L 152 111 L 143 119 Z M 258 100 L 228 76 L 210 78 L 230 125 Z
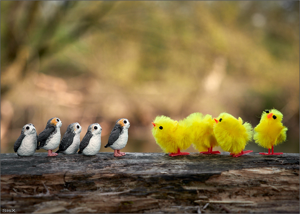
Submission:
M 57 153 L 52 152 L 53 149 L 56 149 L 60 141 L 60 127 L 61 120 L 57 117 L 53 117 L 48 120 L 46 128 L 38 135 L 38 145 L 37 150 L 44 149 L 48 150 L 48 156 L 56 156 Z

